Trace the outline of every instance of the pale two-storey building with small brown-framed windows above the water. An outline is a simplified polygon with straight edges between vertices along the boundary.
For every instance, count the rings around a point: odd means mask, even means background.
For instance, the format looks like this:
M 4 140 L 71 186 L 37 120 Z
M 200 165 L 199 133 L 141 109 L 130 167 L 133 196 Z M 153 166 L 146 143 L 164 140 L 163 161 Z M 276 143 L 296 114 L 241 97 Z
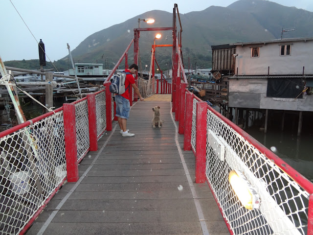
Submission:
M 230 46 L 236 52 L 229 107 L 313 112 L 313 38 Z

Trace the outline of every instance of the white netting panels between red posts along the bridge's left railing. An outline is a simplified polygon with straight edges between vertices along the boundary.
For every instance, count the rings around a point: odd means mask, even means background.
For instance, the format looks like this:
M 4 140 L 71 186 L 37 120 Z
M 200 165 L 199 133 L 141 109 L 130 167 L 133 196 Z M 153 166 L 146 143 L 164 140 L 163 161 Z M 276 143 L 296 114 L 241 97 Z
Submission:
M 105 131 L 105 92 L 95 94 L 97 138 Z M 87 97 L 77 100 L 77 162 L 89 151 Z M 111 120 L 112 121 L 112 120 Z M 0 133 L 0 234 L 23 234 L 67 179 L 63 107 Z

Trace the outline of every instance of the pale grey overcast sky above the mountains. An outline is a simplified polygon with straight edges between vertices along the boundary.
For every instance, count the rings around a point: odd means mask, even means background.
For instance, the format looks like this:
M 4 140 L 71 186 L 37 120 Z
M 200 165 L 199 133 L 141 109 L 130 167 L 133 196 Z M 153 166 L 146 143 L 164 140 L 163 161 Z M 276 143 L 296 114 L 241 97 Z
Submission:
M 172 13 L 174 3 L 177 3 L 179 14 L 185 14 L 202 11 L 212 5 L 226 7 L 236 0 L 157 0 L 152 1 L 153 4 L 149 4 L 147 0 L 0 1 L 1 59 L 38 59 L 37 43 L 42 39 L 45 43 L 46 61 L 53 62 L 68 54 L 67 43 L 73 50 L 89 35 L 147 11 L 163 10 Z M 313 12 L 313 0 L 272 1 Z

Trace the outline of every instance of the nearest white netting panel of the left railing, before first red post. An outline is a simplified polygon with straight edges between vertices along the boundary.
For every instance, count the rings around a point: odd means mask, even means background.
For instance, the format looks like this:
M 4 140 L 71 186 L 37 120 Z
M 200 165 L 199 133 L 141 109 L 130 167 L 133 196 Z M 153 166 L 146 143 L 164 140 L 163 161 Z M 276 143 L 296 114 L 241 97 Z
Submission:
M 1 234 L 19 234 L 66 177 L 63 110 L 2 136 Z

